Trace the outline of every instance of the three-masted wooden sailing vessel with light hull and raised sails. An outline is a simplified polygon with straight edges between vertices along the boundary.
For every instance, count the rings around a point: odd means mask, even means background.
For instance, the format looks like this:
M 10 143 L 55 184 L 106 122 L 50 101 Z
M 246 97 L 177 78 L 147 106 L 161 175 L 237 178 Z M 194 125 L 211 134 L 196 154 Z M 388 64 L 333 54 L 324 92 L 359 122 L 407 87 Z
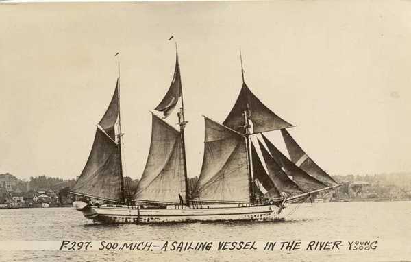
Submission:
M 241 62 L 242 67 L 242 62 Z M 292 139 L 292 125 L 275 115 L 245 84 L 231 112 L 218 123 L 205 121 L 204 155 L 197 184 L 190 189 L 186 168 L 184 100 L 179 57 L 168 92 L 152 112 L 151 145 L 135 193 L 123 179 L 120 70 L 114 95 L 97 124 L 90 156 L 71 193 L 84 217 L 102 223 L 198 222 L 276 219 L 287 204 L 338 187 Z M 165 119 L 177 104 L 179 129 Z M 265 132 L 281 130 L 290 158 Z M 126 181 L 126 182 L 124 182 Z M 92 204 L 85 198 L 103 200 Z

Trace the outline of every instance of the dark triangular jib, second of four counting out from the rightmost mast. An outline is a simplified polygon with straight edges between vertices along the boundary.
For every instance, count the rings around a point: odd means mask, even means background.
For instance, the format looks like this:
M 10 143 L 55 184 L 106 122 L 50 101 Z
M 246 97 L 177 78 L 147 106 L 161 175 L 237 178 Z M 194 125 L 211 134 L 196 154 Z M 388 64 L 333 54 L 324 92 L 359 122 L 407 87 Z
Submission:
M 260 143 L 260 141 L 259 141 Z M 259 145 L 260 150 L 262 153 L 262 160 L 264 161 L 271 181 L 277 191 L 288 193 L 288 195 L 295 195 L 296 193 L 303 193 L 303 191 L 299 188 L 295 182 L 293 182 L 290 178 L 288 178 L 287 174 L 282 170 L 275 160 L 271 157 L 269 152 L 265 149 L 263 145 Z

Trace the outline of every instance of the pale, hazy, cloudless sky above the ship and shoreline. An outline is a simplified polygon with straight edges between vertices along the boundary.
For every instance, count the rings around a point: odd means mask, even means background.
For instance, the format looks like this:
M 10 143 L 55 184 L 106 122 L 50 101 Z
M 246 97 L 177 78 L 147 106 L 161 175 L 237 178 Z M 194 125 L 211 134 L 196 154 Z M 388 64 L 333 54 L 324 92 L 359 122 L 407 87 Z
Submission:
M 410 17 L 410 1 L 2 3 L 0 173 L 79 176 L 119 52 L 123 169 L 140 178 L 150 110 L 173 78 L 170 36 L 189 177 L 202 115 L 222 123 L 240 92 L 239 49 L 251 91 L 329 174 L 411 171 Z

